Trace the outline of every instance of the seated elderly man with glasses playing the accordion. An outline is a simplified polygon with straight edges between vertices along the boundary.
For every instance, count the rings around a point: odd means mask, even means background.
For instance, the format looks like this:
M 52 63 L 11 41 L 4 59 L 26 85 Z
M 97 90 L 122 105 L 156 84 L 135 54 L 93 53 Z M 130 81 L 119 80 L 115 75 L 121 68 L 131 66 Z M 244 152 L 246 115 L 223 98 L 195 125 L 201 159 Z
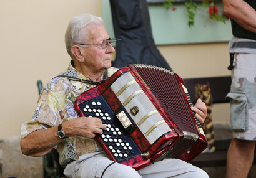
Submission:
M 111 164 L 94 138 L 106 126 L 99 118 L 77 115 L 74 101 L 83 91 L 95 87 L 111 67 L 114 48 L 102 19 L 81 14 L 71 19 L 66 30 L 66 48 L 72 60 L 66 71 L 54 77 L 39 96 L 31 121 L 22 124 L 21 149 L 29 156 L 44 156 L 51 149 L 59 152 L 67 177 L 101 177 Z M 197 101 L 192 108 L 203 123 L 207 109 Z M 139 171 L 123 164 L 113 164 L 104 177 L 208 177 L 201 169 L 179 159 L 165 159 Z

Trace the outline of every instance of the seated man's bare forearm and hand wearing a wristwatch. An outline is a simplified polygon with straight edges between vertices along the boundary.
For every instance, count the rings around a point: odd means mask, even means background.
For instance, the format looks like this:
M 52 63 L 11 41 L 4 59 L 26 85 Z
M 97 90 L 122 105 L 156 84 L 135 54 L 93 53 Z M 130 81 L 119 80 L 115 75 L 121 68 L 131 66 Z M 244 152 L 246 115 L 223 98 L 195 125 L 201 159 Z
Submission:
M 27 156 L 44 156 L 51 151 L 56 144 L 64 139 L 57 136 L 57 127 L 39 129 L 21 139 L 21 151 Z M 62 123 L 62 130 L 66 136 L 85 136 L 94 138 L 95 134 L 102 134 L 106 126 L 99 118 L 75 118 Z

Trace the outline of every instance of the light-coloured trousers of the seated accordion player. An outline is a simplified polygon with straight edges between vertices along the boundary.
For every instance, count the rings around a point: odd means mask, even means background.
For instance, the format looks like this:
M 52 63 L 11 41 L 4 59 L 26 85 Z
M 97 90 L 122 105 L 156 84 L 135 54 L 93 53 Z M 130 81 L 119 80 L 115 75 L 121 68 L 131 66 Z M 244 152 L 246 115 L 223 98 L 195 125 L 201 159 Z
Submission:
M 103 152 L 84 154 L 79 160 L 68 164 L 64 170 L 66 177 L 101 177 L 104 169 L 113 161 Z M 165 178 L 165 177 L 209 177 L 206 172 L 180 159 L 164 159 L 136 171 L 130 166 L 114 163 L 104 172 L 102 178 Z

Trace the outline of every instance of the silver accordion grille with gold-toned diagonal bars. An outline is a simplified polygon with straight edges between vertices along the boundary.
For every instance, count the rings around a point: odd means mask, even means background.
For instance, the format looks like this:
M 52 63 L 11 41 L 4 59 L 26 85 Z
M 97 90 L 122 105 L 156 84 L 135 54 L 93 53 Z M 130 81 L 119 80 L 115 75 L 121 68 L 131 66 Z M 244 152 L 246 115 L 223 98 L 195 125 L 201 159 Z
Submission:
M 130 72 L 117 78 L 111 89 L 150 144 L 172 131 Z M 139 108 L 137 115 L 130 113 L 134 106 Z

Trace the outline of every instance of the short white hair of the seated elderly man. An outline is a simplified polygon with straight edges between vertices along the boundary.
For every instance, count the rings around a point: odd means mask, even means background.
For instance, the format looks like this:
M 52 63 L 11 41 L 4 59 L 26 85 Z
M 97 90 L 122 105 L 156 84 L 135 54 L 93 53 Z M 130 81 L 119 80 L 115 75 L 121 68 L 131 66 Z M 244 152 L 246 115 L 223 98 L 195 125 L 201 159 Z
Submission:
M 96 17 L 91 14 L 80 14 L 73 17 L 69 21 L 67 30 L 65 33 L 65 44 L 67 53 L 71 56 L 71 59 L 74 59 L 74 55 L 71 52 L 71 48 L 74 44 L 81 43 L 82 40 L 87 39 L 86 30 L 81 29 L 88 24 L 97 24 L 103 26 L 103 20 L 101 17 Z

